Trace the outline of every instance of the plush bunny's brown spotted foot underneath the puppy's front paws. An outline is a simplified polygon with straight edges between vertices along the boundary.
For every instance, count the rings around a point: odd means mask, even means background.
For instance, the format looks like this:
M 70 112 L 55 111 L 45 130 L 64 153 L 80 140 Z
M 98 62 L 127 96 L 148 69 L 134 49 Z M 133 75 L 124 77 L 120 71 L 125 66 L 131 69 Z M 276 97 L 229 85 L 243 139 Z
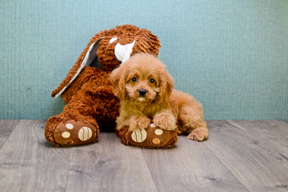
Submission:
M 124 127 L 119 131 L 116 130 L 116 134 L 121 138 L 122 143 L 143 148 L 169 148 L 178 140 L 176 129 L 161 129 L 154 123 L 145 130 L 129 131 L 128 127 Z

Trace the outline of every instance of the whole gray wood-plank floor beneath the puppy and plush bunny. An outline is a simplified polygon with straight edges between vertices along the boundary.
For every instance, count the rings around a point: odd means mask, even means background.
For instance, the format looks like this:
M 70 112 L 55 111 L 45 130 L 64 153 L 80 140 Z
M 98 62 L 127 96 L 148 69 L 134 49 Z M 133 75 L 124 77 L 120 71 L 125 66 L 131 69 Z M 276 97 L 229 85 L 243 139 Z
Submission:
M 115 133 L 55 147 L 46 120 L 0 120 L 0 191 L 288 191 L 288 124 L 207 121 L 202 142 L 126 146 Z

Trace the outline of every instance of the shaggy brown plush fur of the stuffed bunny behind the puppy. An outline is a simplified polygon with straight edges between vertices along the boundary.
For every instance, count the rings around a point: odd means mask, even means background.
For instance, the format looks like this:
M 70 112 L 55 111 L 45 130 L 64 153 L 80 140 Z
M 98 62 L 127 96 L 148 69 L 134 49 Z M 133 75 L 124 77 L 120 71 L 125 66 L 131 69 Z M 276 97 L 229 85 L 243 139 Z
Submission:
M 104 38 L 101 39 L 101 37 Z M 117 40 L 109 43 L 113 37 L 117 37 Z M 121 61 L 116 58 L 114 53 L 117 43 L 126 45 L 135 40 L 131 56 L 140 52 L 157 56 L 160 47 L 160 41 L 151 31 L 139 29 L 133 25 L 117 26 L 110 30 L 101 31 L 92 37 L 76 64 L 68 72 L 58 88 L 52 92 L 52 97 L 69 84 L 80 68 L 91 44 L 100 39 L 96 56 L 101 69 L 90 66 L 84 67 L 62 94 L 63 100 L 67 103 L 63 112 L 49 118 L 46 122 L 45 137 L 47 141 L 56 146 L 94 143 L 98 139 L 99 129 L 113 130 L 115 128 L 115 118 L 119 115 L 119 99 L 112 92 L 109 74 L 121 64 Z M 71 124 L 73 128 L 67 128 L 67 124 Z M 81 129 L 82 127 L 84 128 Z M 83 130 L 86 130 L 85 134 L 89 134 L 89 130 L 91 130 L 93 132 L 91 138 L 81 141 L 81 138 L 83 139 L 84 137 L 84 135 L 81 136 Z M 80 133 L 79 131 L 82 132 Z M 121 134 L 118 135 L 121 137 Z M 177 141 L 177 132 L 173 130 L 168 135 L 169 138 L 165 138 L 165 145 L 162 142 L 160 143 L 161 146 L 145 147 L 166 148 L 173 146 Z M 133 141 L 127 142 L 133 145 Z

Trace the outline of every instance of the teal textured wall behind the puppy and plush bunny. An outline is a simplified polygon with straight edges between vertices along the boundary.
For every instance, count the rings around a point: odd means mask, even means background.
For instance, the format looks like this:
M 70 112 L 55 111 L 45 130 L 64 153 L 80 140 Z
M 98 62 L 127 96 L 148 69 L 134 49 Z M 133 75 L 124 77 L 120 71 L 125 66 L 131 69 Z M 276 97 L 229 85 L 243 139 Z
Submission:
M 89 39 L 133 24 L 161 41 L 175 88 L 205 119 L 288 122 L 288 1 L 0 1 L 0 118 L 61 113 L 51 91 Z

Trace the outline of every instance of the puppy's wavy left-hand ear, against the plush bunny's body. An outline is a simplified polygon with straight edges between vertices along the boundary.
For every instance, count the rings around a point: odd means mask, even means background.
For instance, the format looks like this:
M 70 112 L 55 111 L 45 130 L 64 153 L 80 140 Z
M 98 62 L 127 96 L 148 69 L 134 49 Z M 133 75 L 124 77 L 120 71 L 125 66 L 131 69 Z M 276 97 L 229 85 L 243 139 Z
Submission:
M 126 69 L 123 65 L 120 65 L 120 67 L 114 69 L 110 75 L 109 79 L 112 83 L 112 89 L 114 92 L 114 95 L 118 97 L 119 99 L 126 99 L 125 96 L 125 84 L 126 84 Z

